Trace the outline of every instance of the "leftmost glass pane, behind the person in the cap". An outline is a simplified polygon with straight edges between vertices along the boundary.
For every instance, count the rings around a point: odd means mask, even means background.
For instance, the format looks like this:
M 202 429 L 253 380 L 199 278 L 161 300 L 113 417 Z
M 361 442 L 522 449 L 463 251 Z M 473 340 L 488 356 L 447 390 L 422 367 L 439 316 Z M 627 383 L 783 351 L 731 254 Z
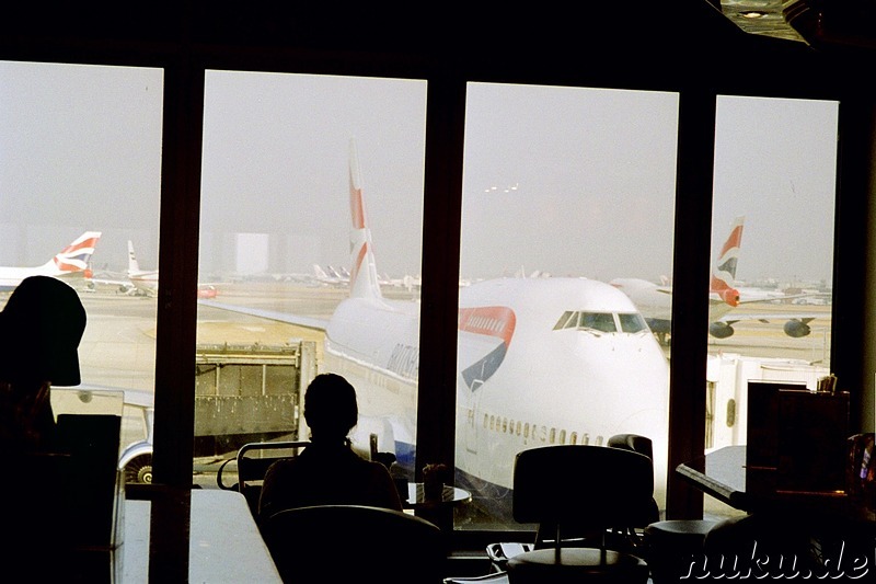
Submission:
M 132 294 L 128 242 L 154 266 L 162 98 L 160 69 L 0 61 L 0 264 L 19 268 L 0 268 L 2 302 L 35 273 L 77 289 L 82 382 L 53 389 L 53 408 L 124 394 L 129 482 L 151 476 L 155 299 Z

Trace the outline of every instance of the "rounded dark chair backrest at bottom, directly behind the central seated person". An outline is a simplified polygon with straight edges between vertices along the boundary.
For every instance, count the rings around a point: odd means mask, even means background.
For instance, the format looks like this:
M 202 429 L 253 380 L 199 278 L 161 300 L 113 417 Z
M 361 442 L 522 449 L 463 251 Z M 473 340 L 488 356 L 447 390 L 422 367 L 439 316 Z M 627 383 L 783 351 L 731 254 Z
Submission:
M 285 582 L 440 583 L 447 559 L 435 524 L 382 507 L 284 509 L 262 535 Z

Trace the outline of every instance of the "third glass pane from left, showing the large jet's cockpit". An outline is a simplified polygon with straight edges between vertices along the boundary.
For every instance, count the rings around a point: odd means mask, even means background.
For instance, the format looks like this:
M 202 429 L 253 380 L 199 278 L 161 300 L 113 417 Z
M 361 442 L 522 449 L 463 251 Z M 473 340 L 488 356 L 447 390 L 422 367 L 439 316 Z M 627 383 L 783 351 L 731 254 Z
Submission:
M 666 474 L 668 363 L 647 329 L 614 332 L 637 309 L 608 283 L 671 273 L 678 96 L 471 83 L 465 119 L 457 526 L 514 528 L 522 449 L 642 434 Z

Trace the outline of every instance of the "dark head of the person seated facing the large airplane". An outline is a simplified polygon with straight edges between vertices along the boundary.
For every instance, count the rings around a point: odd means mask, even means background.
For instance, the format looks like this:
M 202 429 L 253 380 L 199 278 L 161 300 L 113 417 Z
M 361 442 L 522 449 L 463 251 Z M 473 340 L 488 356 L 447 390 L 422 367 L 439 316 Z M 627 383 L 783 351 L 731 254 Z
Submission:
M 304 393 L 304 420 L 311 437 L 345 438 L 359 419 L 356 390 L 336 374 L 313 378 Z

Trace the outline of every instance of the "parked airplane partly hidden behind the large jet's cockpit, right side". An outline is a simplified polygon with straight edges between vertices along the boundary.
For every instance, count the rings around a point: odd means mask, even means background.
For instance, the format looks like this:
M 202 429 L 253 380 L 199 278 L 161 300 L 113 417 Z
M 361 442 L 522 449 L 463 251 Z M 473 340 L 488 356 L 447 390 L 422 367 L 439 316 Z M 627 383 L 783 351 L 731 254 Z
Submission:
M 742 243 L 745 217 L 736 217 L 730 227 L 730 234 L 724 241 L 721 253 L 712 272 L 708 289 L 708 334 L 716 339 L 727 339 L 734 334 L 733 325 L 742 320 L 785 320 L 783 330 L 794 339 L 806 336 L 811 332 L 809 322 L 819 314 L 796 313 L 750 313 L 744 314 L 735 310 L 744 304 L 776 301 L 799 298 L 807 295 L 776 295 L 775 293 L 740 294 L 734 286 L 736 266 L 739 260 L 739 248 Z M 658 285 L 641 278 L 614 278 L 609 284 L 622 290 L 645 317 L 652 332 L 661 344 L 671 332 L 672 286 Z

